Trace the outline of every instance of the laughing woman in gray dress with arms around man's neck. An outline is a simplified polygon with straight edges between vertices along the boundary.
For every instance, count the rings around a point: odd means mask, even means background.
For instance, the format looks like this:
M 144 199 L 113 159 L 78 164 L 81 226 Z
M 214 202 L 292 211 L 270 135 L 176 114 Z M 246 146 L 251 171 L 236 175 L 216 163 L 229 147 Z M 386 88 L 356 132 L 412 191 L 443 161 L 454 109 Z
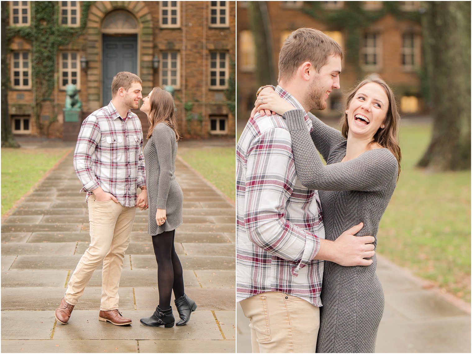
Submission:
M 352 225 L 363 222 L 357 236 L 374 236 L 376 247 L 380 218 L 396 187 L 401 160 L 396 138 L 400 117 L 390 87 L 372 75 L 351 91 L 342 132 L 309 113 L 313 123 L 310 134 L 303 110 L 294 110 L 272 93 L 261 93 L 261 98 L 264 104 L 257 104 L 258 110 L 278 112 L 287 120 L 301 183 L 320 190 L 326 239 L 334 241 Z M 376 267 L 375 255 L 367 267 L 325 261 L 317 353 L 374 352 L 384 309 Z

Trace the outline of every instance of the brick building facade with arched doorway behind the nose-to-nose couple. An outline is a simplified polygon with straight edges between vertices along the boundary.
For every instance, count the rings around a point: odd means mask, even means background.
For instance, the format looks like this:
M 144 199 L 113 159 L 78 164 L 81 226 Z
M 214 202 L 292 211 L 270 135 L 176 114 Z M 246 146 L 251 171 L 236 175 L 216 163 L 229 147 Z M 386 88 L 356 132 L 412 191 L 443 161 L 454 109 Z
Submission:
M 38 3 L 9 1 L 8 28 L 35 26 Z M 184 136 L 235 134 L 229 95 L 236 56 L 234 1 L 58 1 L 53 6 L 59 34 L 65 27 L 82 26 L 82 31 L 59 46 L 55 87 L 35 117 L 37 43 L 21 35 L 9 40 L 8 108 L 15 134 L 45 134 L 47 127 L 50 136 L 62 136 L 65 86 L 78 87 L 84 118 L 108 104 L 111 79 L 122 70 L 143 80 L 143 95 L 154 86 L 172 86 Z M 136 113 L 147 131 L 146 116 Z

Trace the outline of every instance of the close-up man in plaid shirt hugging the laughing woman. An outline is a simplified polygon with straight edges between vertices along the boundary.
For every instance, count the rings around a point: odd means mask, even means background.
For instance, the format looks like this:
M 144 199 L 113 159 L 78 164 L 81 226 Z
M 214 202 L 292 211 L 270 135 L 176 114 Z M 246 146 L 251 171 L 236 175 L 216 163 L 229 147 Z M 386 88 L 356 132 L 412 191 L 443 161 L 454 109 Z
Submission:
M 294 109 L 325 109 L 339 88 L 341 59 L 334 40 L 300 28 L 280 51 L 275 92 Z M 311 131 L 308 115 L 305 121 Z M 314 353 L 323 260 L 366 265 L 365 244 L 374 238 L 355 237 L 359 224 L 324 240 L 318 191 L 298 181 L 287 123 L 269 111 L 250 119 L 239 138 L 236 204 L 237 301 L 250 319 L 253 353 Z

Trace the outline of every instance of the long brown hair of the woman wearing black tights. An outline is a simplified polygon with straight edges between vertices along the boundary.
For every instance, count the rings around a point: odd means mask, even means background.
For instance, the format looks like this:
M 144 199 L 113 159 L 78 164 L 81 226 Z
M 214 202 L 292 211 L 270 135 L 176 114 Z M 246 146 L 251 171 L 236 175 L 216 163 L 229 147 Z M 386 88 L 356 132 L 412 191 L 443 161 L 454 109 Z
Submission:
M 175 109 L 172 95 L 160 87 L 154 87 L 149 100 L 151 111 L 148 115 L 149 130 L 147 138 L 149 139 L 152 136 L 156 125 L 163 122 L 174 130 L 176 140 L 178 141 L 180 135 L 177 128 L 177 110 Z

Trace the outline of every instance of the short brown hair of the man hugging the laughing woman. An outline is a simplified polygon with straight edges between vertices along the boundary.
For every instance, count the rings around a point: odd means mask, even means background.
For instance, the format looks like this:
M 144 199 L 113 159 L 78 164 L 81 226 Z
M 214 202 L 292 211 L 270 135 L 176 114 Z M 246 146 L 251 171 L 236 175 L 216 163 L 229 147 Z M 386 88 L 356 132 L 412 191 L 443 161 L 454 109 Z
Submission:
M 280 49 L 278 81 L 290 82 L 296 69 L 305 61 L 311 62 L 320 72 L 331 55 L 343 59 L 343 51 L 334 39 L 314 28 L 299 28 L 288 36 Z

